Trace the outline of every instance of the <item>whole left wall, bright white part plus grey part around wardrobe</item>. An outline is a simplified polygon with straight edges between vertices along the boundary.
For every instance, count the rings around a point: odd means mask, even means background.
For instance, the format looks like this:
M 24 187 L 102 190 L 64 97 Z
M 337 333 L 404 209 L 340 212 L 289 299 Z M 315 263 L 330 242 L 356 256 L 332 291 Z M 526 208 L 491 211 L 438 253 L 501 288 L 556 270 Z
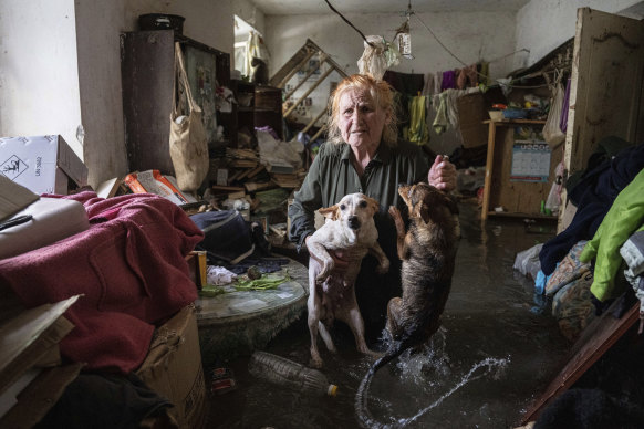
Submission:
M 90 185 L 124 176 L 120 33 L 137 30 L 139 14 L 173 13 L 186 18 L 185 35 L 232 52 L 232 3 L 263 20 L 232 0 L 2 0 L 0 135 L 62 134 Z

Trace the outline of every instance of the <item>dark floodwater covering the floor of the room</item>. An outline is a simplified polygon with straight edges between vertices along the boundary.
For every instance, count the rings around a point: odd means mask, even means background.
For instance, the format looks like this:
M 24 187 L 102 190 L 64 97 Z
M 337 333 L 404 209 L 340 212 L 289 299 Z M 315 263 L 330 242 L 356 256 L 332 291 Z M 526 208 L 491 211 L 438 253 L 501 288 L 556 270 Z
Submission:
M 533 282 L 512 270 L 516 254 L 553 237 L 554 226 L 531 226 L 528 231 L 520 219 L 492 218 L 481 227 L 475 205 L 464 202 L 460 210 L 463 238 L 440 331 L 425 353 L 404 355 L 371 384 L 368 408 L 382 423 L 517 427 L 570 348 L 550 306 L 534 296 Z M 337 331 L 336 355 L 320 341 L 322 372 L 339 386 L 336 397 L 309 396 L 255 378 L 247 369 L 248 356 L 239 357 L 222 363 L 232 369 L 237 388 L 210 395 L 206 427 L 360 427 L 354 397 L 373 358 L 355 352 L 349 329 Z M 266 352 L 308 365 L 305 317 L 279 334 Z

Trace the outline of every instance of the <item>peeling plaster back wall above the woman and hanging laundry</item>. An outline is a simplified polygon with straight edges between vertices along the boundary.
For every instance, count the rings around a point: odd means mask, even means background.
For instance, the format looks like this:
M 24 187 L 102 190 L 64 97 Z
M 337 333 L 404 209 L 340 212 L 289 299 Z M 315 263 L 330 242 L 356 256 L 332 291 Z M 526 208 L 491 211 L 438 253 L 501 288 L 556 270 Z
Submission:
M 392 40 L 395 29 L 403 19 L 397 14 L 346 14 L 346 18 L 364 34 L 380 34 Z M 516 13 L 499 12 L 444 12 L 420 13 L 420 20 L 429 27 L 440 41 L 466 64 L 479 60 L 494 60 L 515 51 Z M 270 74 L 274 74 L 289 59 L 311 39 L 349 74 L 357 73 L 356 62 L 364 48 L 360 34 L 344 23 L 336 14 L 323 15 L 267 15 L 266 40 L 271 52 Z M 435 73 L 463 66 L 446 52 L 436 39 L 412 18 L 412 53 L 415 60 L 403 59 L 401 64 L 392 70 L 403 73 Z M 512 70 L 512 57 L 490 64 L 492 77 L 505 76 Z M 329 98 L 329 83 L 339 77 L 332 73 L 312 94 L 313 106 L 301 122 L 308 123 L 325 107 Z M 290 81 L 295 84 L 297 77 Z M 300 90 L 295 98 L 303 93 Z M 432 118 L 430 118 L 432 119 Z M 451 154 L 460 143 L 454 133 L 440 137 L 433 134 L 430 146 L 434 150 Z

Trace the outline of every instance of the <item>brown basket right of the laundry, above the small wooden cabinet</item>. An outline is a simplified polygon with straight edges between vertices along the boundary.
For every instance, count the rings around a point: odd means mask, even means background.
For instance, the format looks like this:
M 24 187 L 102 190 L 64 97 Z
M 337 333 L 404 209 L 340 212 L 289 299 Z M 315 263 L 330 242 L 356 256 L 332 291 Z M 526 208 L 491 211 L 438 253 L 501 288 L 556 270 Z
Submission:
M 456 100 L 458 108 L 458 125 L 463 137 L 463 147 L 471 148 L 488 143 L 488 111 L 481 93 L 472 93 Z

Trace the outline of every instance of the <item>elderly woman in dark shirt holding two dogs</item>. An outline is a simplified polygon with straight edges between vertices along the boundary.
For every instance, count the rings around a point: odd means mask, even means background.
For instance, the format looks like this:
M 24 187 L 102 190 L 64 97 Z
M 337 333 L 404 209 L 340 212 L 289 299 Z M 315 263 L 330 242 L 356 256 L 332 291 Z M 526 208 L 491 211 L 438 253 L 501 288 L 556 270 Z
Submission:
M 376 261 L 366 257 L 355 285 L 366 334 L 372 338 L 384 327 L 389 297 L 401 294 L 396 230 L 387 209 L 396 206 L 405 212 L 398 184 L 418 181 L 450 191 L 456 187 L 456 168 L 440 155 L 429 168 L 417 145 L 397 139 L 393 93 L 386 82 L 361 74 L 345 77 L 331 98 L 329 142 L 321 146 L 289 208 L 289 239 L 300 251 L 315 231 L 315 210 L 333 206 L 347 193 L 362 192 L 380 202 L 375 223 L 378 242 L 391 261 L 389 272 L 375 274 Z M 336 270 L 346 266 L 341 253 L 334 259 Z

